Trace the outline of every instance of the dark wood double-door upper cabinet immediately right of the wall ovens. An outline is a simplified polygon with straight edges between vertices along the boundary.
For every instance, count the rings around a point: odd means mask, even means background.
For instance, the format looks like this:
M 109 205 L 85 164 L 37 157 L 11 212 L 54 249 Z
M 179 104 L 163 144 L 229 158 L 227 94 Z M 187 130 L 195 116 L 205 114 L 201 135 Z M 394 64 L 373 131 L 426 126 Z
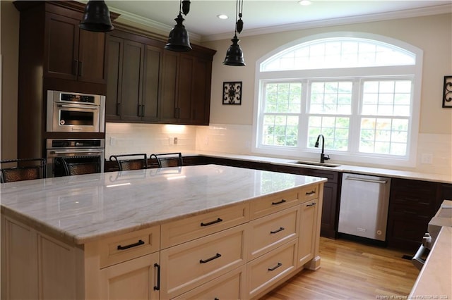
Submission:
M 120 31 L 109 35 L 107 45 L 106 120 L 148 123 L 159 120 L 162 45 L 145 44 L 138 37 Z

